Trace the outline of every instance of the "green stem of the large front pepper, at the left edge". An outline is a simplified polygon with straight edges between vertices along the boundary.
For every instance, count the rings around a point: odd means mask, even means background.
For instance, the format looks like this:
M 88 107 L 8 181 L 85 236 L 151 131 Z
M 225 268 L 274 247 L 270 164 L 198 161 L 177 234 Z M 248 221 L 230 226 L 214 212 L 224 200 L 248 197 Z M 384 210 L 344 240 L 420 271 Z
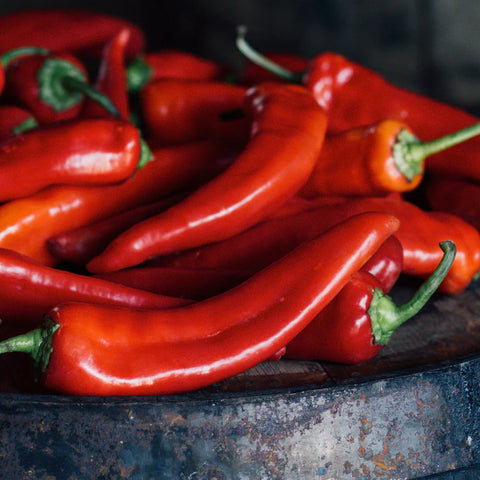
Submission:
M 36 372 L 41 374 L 47 368 L 52 353 L 53 334 L 59 327 L 60 325 L 46 317 L 41 327 L 0 342 L 0 354 L 26 353 L 32 357 Z

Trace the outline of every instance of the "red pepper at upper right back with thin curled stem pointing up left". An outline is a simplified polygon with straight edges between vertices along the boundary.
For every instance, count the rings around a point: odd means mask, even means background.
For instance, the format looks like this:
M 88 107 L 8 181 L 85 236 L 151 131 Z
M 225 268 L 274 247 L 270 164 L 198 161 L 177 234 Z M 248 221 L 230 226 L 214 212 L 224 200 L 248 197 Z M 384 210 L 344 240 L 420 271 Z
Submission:
M 378 73 L 342 55 L 317 55 L 302 72 L 276 65 L 248 45 L 240 29 L 237 47 L 251 61 L 293 83 L 309 89 L 328 112 L 328 134 L 380 122 L 386 118 L 405 122 L 424 141 L 478 123 L 478 118 L 425 95 L 399 88 Z M 480 138 L 460 143 L 428 157 L 427 172 L 480 180 Z

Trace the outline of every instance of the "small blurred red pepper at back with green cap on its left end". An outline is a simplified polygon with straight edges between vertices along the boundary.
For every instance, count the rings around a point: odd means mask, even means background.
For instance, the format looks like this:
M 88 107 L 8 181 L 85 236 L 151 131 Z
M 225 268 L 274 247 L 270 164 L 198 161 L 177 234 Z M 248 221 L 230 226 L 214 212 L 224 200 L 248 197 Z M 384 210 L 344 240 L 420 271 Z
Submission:
M 166 78 L 221 80 L 228 70 L 216 62 L 181 50 L 160 50 L 136 57 L 127 67 L 128 89 L 140 91 L 146 84 Z

